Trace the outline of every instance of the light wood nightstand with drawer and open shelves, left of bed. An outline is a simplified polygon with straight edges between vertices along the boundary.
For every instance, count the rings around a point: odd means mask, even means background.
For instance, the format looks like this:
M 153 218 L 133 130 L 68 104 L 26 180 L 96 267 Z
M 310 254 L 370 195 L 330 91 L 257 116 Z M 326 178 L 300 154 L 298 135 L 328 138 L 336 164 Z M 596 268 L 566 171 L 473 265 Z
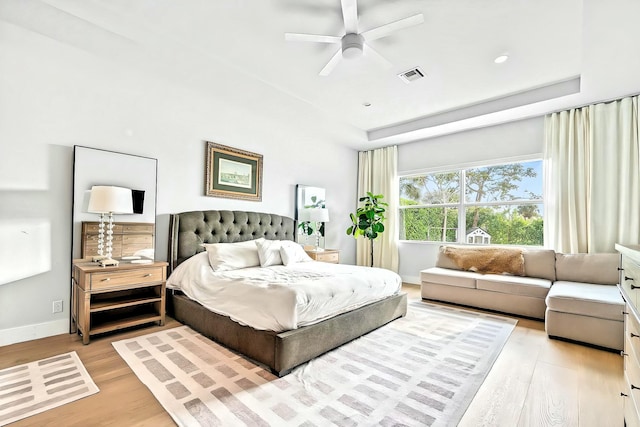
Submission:
M 91 335 L 165 320 L 167 263 L 120 261 L 100 267 L 85 259 L 73 262 L 71 332 Z

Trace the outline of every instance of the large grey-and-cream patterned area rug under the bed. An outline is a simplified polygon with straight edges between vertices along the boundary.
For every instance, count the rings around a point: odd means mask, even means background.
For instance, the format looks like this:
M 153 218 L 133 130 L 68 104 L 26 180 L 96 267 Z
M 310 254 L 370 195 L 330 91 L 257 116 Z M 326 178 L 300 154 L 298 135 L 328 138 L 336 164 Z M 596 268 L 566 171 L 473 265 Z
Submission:
M 454 426 L 515 324 L 415 302 L 282 378 L 186 326 L 113 346 L 180 426 Z

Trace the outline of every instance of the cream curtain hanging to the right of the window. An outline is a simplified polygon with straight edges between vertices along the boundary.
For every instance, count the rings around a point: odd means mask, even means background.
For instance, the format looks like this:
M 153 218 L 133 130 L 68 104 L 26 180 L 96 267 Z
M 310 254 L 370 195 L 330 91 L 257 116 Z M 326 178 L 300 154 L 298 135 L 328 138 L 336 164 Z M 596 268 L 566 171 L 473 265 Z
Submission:
M 640 242 L 638 97 L 545 118 L 545 243 L 614 252 Z

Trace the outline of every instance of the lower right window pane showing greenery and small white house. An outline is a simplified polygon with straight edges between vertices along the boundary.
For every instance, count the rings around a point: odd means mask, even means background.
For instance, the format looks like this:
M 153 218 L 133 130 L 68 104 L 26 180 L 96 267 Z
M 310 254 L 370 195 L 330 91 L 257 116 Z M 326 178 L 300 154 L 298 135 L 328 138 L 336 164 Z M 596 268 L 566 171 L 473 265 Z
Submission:
M 543 245 L 542 204 L 469 207 L 465 216 L 463 242 Z

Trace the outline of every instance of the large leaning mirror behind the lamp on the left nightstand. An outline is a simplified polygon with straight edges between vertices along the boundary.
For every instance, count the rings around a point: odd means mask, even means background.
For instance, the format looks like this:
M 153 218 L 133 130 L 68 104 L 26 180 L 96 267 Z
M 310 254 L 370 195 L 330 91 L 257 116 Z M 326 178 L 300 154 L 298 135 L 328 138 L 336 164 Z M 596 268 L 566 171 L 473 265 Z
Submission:
M 158 161 L 78 145 L 73 159 L 72 259 L 102 256 L 99 252 L 104 254 L 108 243 L 114 259 L 154 259 Z M 109 212 L 96 204 L 98 189 L 126 190 L 131 203 L 125 209 Z M 112 216 L 113 228 L 105 236 L 107 226 L 101 224 L 101 216 L 106 222 L 108 215 Z

